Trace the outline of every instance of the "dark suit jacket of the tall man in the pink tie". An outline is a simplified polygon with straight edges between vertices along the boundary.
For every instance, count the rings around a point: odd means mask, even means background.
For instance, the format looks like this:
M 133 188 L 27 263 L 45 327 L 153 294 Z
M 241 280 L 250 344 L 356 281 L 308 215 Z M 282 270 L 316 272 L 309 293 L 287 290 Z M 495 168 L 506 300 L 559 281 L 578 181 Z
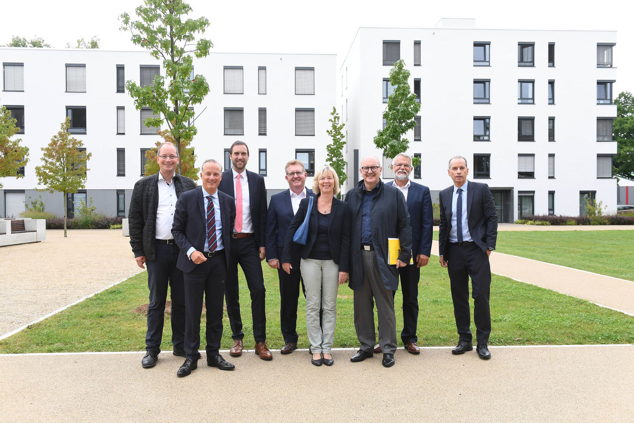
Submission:
M 249 181 L 249 211 L 253 222 L 254 237 L 256 237 L 258 247 L 266 247 L 264 239 L 266 234 L 266 187 L 264 186 L 264 178 L 257 173 L 246 172 L 247 181 Z M 223 179 L 218 184 L 218 190 L 235 198 L 232 169 L 223 172 Z M 231 227 L 233 228 L 233 225 Z

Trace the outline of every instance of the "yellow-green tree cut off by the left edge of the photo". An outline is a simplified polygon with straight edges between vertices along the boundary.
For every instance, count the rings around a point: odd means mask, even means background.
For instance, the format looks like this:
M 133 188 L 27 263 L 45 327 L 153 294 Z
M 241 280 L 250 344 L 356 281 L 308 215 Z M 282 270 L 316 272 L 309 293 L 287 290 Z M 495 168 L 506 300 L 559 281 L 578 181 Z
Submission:
M 6 110 L 4 106 L 0 106 L 0 178 L 7 176 L 15 176 L 22 178 L 18 174 L 20 167 L 25 166 L 29 159 L 29 148 L 20 146 L 20 138 L 11 140 L 18 131 L 19 127 L 15 126 L 16 120 L 11 117 L 11 112 Z M 3 185 L 0 182 L 0 188 Z

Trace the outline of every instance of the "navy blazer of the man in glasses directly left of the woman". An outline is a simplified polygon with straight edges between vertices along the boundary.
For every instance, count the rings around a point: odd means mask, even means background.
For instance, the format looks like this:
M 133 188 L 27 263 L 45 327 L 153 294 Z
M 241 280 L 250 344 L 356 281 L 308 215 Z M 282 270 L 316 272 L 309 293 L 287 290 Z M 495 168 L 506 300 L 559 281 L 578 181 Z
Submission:
M 304 188 L 304 192 L 306 197 L 313 195 L 313 190 L 309 188 Z M 266 212 L 266 261 L 281 258 L 286 231 L 294 217 L 290 190 L 271 195 L 269 209 Z

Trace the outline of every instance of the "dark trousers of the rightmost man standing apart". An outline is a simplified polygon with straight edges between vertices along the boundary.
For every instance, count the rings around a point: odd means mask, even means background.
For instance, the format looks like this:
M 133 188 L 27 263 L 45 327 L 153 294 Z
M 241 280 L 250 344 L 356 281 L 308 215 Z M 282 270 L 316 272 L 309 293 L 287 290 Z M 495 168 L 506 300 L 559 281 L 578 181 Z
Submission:
M 460 247 L 448 244 L 448 273 L 451 280 L 451 298 L 456 329 L 460 339 L 472 341 L 469 311 L 469 277 L 471 296 L 474 299 L 475 338 L 478 344 L 488 344 L 491 334 L 491 266 L 486 252 L 475 243 Z

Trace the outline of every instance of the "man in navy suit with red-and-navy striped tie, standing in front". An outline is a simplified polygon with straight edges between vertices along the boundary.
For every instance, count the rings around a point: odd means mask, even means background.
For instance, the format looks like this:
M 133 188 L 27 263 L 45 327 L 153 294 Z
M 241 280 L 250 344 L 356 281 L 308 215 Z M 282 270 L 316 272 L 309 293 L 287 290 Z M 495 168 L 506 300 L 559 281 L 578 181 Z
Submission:
M 198 367 L 200 314 L 205 296 L 207 307 L 207 365 L 221 370 L 234 366 L 219 355 L 223 336 L 223 294 L 235 219 L 233 198 L 218 191 L 223 168 L 216 160 L 205 160 L 202 188 L 183 193 L 176 202 L 172 235 L 180 249 L 176 266 L 183 271 L 185 285 L 185 356 L 179 377 Z

